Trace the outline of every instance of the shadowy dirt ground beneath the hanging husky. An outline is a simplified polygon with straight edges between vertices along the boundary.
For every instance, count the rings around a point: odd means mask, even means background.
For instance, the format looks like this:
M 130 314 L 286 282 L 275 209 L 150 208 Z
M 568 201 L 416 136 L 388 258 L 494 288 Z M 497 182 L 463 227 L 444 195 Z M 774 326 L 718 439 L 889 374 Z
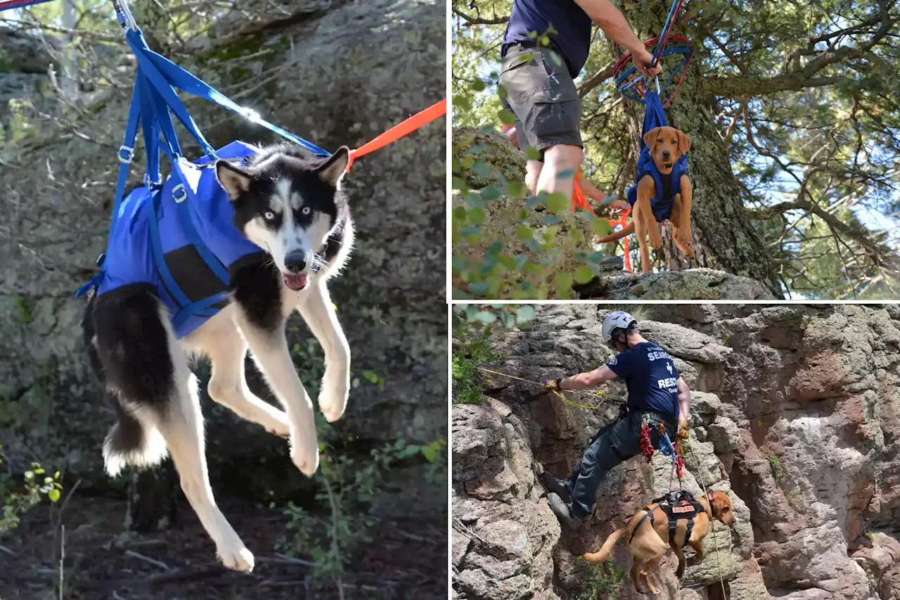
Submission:
M 166 532 L 123 533 L 125 503 L 75 495 L 64 512 L 64 600 L 286 600 L 446 598 L 446 523 L 380 523 L 337 586 L 315 589 L 314 565 L 275 550 L 288 517 L 241 502 L 222 512 L 256 556 L 251 574 L 220 567 L 191 508 L 178 506 Z M 0 599 L 57 600 L 59 536 L 48 506 L 35 508 L 0 546 Z M 323 544 L 324 545 L 324 544 Z

